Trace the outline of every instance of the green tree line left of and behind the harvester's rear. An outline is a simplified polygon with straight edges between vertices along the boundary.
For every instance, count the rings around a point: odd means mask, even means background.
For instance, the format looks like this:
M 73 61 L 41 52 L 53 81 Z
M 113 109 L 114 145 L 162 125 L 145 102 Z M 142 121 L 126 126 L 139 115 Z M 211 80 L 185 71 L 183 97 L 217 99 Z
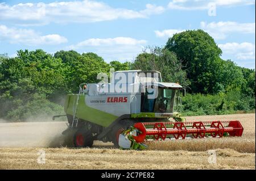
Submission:
M 124 64 L 126 65 L 126 64 Z M 63 97 L 82 82 L 99 82 L 97 74 L 110 65 L 95 53 L 19 50 L 17 57 L 0 56 L 0 117 L 27 120 L 63 113 Z M 57 104 L 56 104 L 57 103 Z

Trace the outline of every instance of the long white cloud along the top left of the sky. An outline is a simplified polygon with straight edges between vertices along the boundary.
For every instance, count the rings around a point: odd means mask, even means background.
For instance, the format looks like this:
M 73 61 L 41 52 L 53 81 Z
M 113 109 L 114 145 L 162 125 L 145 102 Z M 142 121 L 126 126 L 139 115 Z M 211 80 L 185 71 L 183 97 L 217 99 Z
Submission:
M 101 22 L 114 19 L 147 18 L 152 14 L 160 14 L 164 7 L 151 4 L 146 9 L 134 11 L 115 9 L 103 2 L 97 1 L 68 1 L 52 3 L 19 3 L 7 5 L 0 3 L 0 20 L 12 20 L 17 24 L 48 24 L 68 22 Z

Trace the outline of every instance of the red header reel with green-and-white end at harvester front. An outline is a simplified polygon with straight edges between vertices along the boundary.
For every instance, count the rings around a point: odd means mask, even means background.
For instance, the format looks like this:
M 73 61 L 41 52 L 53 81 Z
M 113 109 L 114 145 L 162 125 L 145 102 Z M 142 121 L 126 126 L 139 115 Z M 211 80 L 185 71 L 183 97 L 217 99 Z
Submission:
M 238 120 L 135 123 L 119 136 L 122 149 L 146 149 L 144 141 L 178 140 L 185 138 L 221 138 L 242 136 L 243 127 Z

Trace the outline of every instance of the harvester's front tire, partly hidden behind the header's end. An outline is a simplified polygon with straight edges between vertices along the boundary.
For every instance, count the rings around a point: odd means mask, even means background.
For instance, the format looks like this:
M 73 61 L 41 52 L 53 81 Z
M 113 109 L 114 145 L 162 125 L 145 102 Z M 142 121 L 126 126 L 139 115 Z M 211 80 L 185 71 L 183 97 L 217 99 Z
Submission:
M 125 131 L 128 127 L 133 126 L 135 121 L 133 120 L 122 120 L 112 128 L 112 142 L 115 148 L 119 148 L 118 140 L 119 134 Z

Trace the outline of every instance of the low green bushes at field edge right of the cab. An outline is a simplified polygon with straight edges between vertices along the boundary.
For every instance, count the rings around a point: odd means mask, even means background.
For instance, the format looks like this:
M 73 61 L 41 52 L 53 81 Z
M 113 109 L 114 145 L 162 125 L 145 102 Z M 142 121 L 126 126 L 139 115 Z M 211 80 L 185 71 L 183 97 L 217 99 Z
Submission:
M 255 110 L 255 98 L 242 96 L 240 90 L 215 95 L 187 94 L 183 97 L 183 115 L 221 115 Z

